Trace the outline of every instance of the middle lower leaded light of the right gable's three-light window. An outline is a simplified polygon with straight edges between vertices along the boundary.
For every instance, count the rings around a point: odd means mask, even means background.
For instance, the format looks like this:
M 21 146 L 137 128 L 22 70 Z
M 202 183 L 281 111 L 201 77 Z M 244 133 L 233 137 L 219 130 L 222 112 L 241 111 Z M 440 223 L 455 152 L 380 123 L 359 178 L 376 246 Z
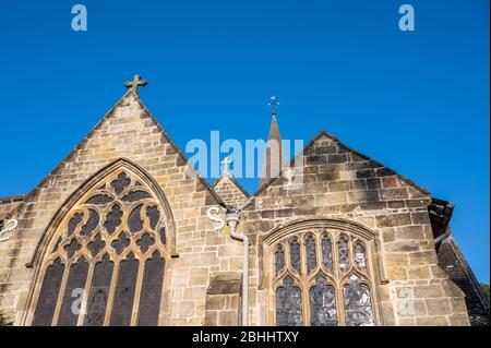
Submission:
M 312 326 L 336 326 L 337 310 L 334 287 L 319 277 L 310 288 L 310 324 Z

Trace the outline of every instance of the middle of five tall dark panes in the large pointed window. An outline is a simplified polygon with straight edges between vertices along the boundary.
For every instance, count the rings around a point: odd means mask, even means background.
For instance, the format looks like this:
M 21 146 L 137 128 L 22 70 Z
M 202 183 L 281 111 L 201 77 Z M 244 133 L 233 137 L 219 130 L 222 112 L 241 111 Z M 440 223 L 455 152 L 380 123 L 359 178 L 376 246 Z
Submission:
M 88 293 L 85 326 L 104 325 L 113 266 L 115 264 L 109 260 L 107 254 L 95 265 L 94 278 L 92 279 L 91 291 Z

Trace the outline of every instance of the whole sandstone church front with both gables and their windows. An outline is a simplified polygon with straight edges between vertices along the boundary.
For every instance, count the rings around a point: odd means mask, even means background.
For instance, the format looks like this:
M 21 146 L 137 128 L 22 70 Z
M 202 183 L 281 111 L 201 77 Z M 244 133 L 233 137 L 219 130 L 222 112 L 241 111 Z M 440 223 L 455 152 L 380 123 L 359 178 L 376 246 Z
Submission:
M 470 324 L 439 264 L 447 202 L 326 132 L 294 188 L 277 176 L 250 196 L 228 172 L 209 185 L 135 87 L 32 192 L 0 201 L 3 228 L 16 221 L 0 242 L 15 325 Z M 247 296 L 243 241 L 208 217 L 246 201 Z

